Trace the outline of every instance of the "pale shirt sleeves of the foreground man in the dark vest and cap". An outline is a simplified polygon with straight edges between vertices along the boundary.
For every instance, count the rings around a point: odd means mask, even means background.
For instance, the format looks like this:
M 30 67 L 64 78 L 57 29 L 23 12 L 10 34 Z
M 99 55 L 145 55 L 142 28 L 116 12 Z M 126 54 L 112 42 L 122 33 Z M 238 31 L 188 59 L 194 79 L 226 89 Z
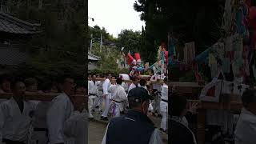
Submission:
M 107 133 L 108 127 L 109 125 L 106 126 L 106 132 L 102 139 L 102 144 L 106 144 L 106 133 Z M 153 133 L 151 134 L 149 144 L 162 144 L 162 137 L 160 136 L 158 129 L 154 129 Z

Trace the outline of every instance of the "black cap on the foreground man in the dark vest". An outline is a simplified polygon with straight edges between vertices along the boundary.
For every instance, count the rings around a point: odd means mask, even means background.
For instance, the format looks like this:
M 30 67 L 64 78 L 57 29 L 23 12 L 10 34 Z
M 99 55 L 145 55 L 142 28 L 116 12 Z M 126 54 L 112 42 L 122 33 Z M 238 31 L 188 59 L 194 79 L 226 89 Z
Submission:
M 148 91 L 143 87 L 135 87 L 131 89 L 128 93 L 128 99 L 134 99 L 135 102 L 143 102 L 146 100 L 154 100 Z

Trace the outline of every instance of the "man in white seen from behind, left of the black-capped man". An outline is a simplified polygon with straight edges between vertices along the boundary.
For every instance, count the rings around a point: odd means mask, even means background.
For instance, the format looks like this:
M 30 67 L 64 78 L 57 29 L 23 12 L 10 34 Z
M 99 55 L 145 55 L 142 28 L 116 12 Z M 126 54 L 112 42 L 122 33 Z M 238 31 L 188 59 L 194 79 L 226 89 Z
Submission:
M 124 106 L 122 103 L 128 102 L 126 90 L 121 86 L 122 78 L 117 78 L 117 85 L 110 87 L 110 90 L 113 91 L 112 102 L 113 102 L 113 116 L 119 117 L 121 112 L 124 111 Z

